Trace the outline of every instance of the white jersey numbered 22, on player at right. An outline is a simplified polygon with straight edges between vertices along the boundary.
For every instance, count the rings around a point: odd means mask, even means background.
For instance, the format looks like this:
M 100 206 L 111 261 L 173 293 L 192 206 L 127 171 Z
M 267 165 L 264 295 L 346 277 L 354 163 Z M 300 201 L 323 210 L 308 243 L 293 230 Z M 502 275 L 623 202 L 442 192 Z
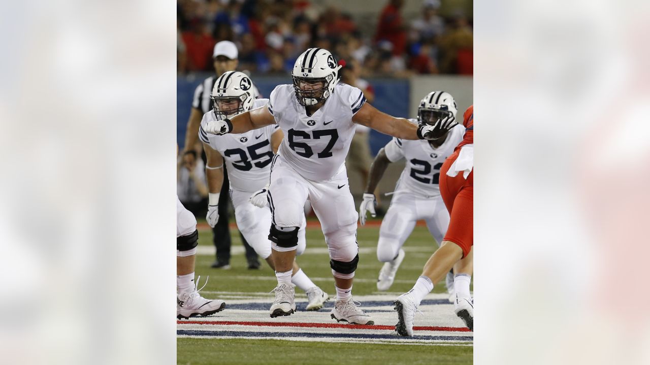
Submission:
M 417 120 L 409 119 L 417 124 Z M 400 140 L 393 138 L 383 151 L 386 157 L 395 162 L 406 158 L 406 166 L 397 182 L 395 192 L 413 192 L 422 197 L 440 195 L 440 168 L 454 153 L 465 133 L 463 125 L 456 125 L 448 134 L 447 140 L 437 148 L 431 147 L 427 140 Z

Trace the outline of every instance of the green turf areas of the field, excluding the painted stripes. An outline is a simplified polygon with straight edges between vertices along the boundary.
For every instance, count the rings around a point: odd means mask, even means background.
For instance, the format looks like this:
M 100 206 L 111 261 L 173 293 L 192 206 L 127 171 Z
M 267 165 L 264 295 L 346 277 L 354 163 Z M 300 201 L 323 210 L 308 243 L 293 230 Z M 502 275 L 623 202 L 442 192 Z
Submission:
M 307 249 L 298 257 L 298 264 L 315 284 L 330 294 L 334 292 L 330 259 L 326 253 L 309 254 L 313 247 L 326 247 L 319 228 L 307 229 Z M 236 229 L 231 229 L 233 247 L 241 241 Z M 359 247 L 376 247 L 379 227 L 359 227 Z M 199 231 L 199 244 L 212 245 L 212 232 Z M 422 272 L 422 266 L 437 248 L 435 240 L 426 227 L 415 227 L 404 244 L 405 247 L 420 247 L 422 252 L 407 252 L 406 258 L 396 275 L 396 283 L 390 292 L 407 292 Z M 210 277 L 203 291 L 205 297 L 218 297 L 209 292 L 270 292 L 275 286 L 275 275 L 265 262 L 261 270 L 248 270 L 244 254 L 233 255 L 231 270 L 210 268 L 213 256 L 198 255 L 197 275 Z M 359 267 L 355 279 L 369 279 L 367 283 L 355 281 L 354 295 L 367 295 L 377 291 L 376 278 L 383 263 L 376 254 L 359 254 Z M 405 283 L 398 281 L 404 280 Z M 201 280 L 202 282 L 202 280 Z M 202 285 L 202 283 L 201 283 Z M 435 293 L 446 292 L 444 281 L 435 285 Z M 304 294 L 296 292 L 296 296 Z M 269 294 L 269 298 L 272 295 Z M 177 339 L 177 362 L 179 364 L 471 364 L 472 346 L 431 346 L 402 344 L 355 344 L 331 342 L 295 342 L 279 340 L 246 339 Z

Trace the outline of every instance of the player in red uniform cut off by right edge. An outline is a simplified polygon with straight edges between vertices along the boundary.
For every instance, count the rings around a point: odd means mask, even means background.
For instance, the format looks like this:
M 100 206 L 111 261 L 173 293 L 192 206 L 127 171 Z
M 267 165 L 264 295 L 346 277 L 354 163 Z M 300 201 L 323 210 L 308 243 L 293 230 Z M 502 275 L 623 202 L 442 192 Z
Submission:
M 438 128 L 445 129 L 443 121 Z M 465 272 L 473 270 L 474 245 L 474 106 L 463 114 L 465 135 L 440 170 L 440 194 L 449 210 L 447 234 L 440 248 L 424 264 L 422 275 L 409 292 L 397 297 L 395 309 L 398 323 L 395 330 L 402 336 L 413 336 L 413 317 L 422 299 L 447 272 L 454 268 L 454 288 L 457 281 L 465 281 L 467 290 L 457 290 L 454 311 L 469 329 L 474 327 L 474 303 L 469 295 L 470 277 Z M 467 276 L 465 276 L 467 275 Z M 465 292 L 465 293 L 463 293 Z

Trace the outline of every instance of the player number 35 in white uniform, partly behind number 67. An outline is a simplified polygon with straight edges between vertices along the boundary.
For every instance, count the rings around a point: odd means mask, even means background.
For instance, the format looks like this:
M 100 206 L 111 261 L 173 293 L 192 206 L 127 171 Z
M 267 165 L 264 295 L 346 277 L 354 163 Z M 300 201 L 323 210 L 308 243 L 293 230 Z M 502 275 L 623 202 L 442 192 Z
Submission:
M 254 99 L 252 81 L 239 71 L 227 71 L 214 83 L 212 91 L 213 110 L 203 114 L 201 125 L 250 110 L 263 107 L 268 99 Z M 217 136 L 207 134 L 202 127 L 199 138 L 207 157 L 206 176 L 209 190 L 207 221 L 214 227 L 218 221 L 218 201 L 223 182 L 224 160 L 230 179 L 230 198 L 235 208 L 235 220 L 239 231 L 255 249 L 257 255 L 266 259 L 275 269 L 271 258 L 271 242 L 268 230 L 271 211 L 266 199 L 271 160 L 278 151 L 282 131 L 278 125 L 268 125 L 242 134 Z M 298 232 L 298 255 L 305 250 L 305 225 Z M 291 282 L 305 290 L 309 303 L 307 310 L 322 308 L 329 296 L 320 290 L 294 262 Z

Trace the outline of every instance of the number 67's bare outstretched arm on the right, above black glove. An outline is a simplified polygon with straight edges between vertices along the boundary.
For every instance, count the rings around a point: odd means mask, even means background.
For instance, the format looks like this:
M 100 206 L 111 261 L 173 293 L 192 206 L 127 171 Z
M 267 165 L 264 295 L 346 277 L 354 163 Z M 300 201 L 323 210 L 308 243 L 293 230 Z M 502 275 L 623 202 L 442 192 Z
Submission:
M 369 103 L 365 103 L 352 117 L 354 123 L 370 127 L 375 131 L 401 138 L 402 140 L 417 140 L 418 126 L 404 118 L 395 118 L 380 112 Z

